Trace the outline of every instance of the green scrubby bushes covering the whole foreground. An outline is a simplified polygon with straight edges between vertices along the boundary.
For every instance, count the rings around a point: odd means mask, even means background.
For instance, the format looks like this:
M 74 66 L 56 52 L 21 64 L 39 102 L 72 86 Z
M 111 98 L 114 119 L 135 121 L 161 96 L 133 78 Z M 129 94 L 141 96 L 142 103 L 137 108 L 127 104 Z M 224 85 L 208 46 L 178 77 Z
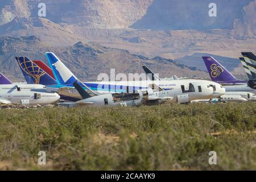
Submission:
M 255 126 L 255 103 L 2 109 L 0 169 L 255 170 Z

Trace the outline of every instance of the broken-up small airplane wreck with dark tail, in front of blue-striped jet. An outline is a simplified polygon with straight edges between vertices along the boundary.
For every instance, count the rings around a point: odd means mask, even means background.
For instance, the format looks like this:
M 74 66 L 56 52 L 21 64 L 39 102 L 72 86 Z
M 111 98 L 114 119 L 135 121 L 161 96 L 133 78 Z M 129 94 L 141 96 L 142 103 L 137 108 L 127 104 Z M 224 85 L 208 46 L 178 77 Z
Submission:
M 114 93 L 114 94 L 96 94 L 93 90 L 90 90 L 86 85 L 84 85 L 79 80 L 73 83 L 77 91 L 82 97 L 82 100 L 73 103 L 60 103 L 60 106 L 83 106 L 83 105 L 93 105 L 93 106 L 136 106 L 136 105 L 155 105 L 163 104 L 165 102 L 174 103 L 187 103 L 186 95 L 180 95 L 180 97 L 174 96 L 173 90 L 163 90 L 162 88 L 157 88 L 154 91 L 151 88 L 146 90 L 137 90 L 135 93 Z M 84 87 L 82 87 L 83 85 Z M 152 88 L 158 86 L 154 85 Z M 213 89 L 208 87 L 209 94 L 213 92 Z M 204 98 L 204 97 L 202 97 Z M 208 98 L 208 97 L 205 97 Z

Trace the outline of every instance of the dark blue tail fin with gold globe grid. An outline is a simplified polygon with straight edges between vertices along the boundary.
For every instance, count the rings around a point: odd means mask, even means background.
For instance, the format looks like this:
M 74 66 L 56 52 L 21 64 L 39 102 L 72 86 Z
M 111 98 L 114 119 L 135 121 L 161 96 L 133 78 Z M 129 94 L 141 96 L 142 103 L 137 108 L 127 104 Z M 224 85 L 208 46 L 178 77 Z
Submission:
M 56 81 L 44 69 L 27 57 L 15 57 L 28 84 L 55 85 Z

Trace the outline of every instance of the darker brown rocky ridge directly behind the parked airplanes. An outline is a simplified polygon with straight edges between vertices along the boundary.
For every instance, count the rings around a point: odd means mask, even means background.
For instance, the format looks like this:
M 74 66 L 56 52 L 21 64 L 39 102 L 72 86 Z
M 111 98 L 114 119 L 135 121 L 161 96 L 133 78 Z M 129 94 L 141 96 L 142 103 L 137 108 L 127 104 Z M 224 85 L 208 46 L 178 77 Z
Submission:
M 143 73 L 142 65 L 147 65 L 161 77 L 177 75 L 207 77 L 207 73 L 195 67 L 187 67 L 171 59 L 163 59 L 134 55 L 128 51 L 109 48 L 98 44 L 78 42 L 73 46 L 54 47 L 36 38 L 2 37 L 0 38 L 0 72 L 13 81 L 23 80 L 22 73 L 16 63 L 15 56 L 27 56 L 34 60 L 43 60 L 47 63 L 45 52 L 52 51 L 60 57 L 69 69 L 82 80 L 97 80 L 100 73 Z M 48 64 L 48 63 L 47 63 Z

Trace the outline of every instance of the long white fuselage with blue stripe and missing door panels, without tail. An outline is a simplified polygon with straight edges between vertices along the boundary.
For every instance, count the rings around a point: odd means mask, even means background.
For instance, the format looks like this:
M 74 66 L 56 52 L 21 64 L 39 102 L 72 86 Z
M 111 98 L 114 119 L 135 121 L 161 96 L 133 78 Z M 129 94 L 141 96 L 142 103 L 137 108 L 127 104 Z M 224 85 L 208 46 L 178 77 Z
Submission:
M 146 88 L 151 88 L 152 85 L 157 85 L 164 91 L 155 92 L 158 97 L 174 97 L 177 100 L 177 96 L 188 95 L 189 101 L 199 100 L 199 99 L 211 99 L 217 98 L 225 94 L 225 89 L 222 88 L 220 84 L 208 80 L 196 80 L 196 79 L 186 79 L 186 80 L 160 80 L 160 81 L 115 81 L 115 82 L 85 82 L 85 84 L 96 84 L 97 89 L 93 89 L 97 94 L 109 94 L 109 93 L 132 93 L 135 90 L 142 90 Z M 192 90 L 189 90 L 189 84 L 193 85 Z M 109 86 L 110 85 L 110 86 Z M 109 89 L 111 88 L 111 89 Z M 127 89 L 129 88 L 129 89 Z M 66 93 L 61 92 L 61 95 L 67 95 L 75 98 L 81 98 L 76 89 L 69 89 Z M 155 97 L 154 96 L 154 97 Z

